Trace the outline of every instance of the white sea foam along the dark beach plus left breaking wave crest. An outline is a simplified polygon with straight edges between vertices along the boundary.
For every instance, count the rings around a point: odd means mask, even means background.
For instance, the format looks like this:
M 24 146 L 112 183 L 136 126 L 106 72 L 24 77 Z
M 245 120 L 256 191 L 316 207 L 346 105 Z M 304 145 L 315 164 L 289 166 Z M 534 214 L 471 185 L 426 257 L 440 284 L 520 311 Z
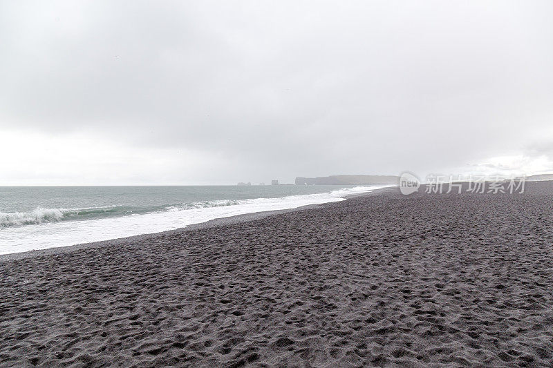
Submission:
M 30 213 L 1 213 L 0 221 L 26 226 L 0 227 L 0 254 L 19 253 L 126 236 L 157 233 L 221 217 L 261 211 L 294 209 L 308 204 L 344 200 L 347 195 L 373 191 L 381 186 L 357 186 L 328 193 L 290 195 L 252 200 L 218 200 L 174 205 L 143 214 L 103 217 L 94 220 L 60 221 L 83 209 L 35 209 Z

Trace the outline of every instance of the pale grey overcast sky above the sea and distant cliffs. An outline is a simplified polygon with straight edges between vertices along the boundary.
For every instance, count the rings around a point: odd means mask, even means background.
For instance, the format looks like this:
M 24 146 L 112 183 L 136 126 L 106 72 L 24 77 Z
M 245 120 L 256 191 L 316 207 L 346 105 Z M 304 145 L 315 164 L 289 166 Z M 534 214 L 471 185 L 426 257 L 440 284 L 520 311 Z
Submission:
M 0 0 L 0 185 L 553 172 L 553 1 Z

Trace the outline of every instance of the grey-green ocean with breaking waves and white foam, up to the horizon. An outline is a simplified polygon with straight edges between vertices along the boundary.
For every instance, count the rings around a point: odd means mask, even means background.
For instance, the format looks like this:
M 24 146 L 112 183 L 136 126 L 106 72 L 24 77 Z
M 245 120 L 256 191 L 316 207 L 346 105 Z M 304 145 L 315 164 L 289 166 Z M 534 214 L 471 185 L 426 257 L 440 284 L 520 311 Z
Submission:
M 3 186 L 0 254 L 344 200 L 380 186 Z

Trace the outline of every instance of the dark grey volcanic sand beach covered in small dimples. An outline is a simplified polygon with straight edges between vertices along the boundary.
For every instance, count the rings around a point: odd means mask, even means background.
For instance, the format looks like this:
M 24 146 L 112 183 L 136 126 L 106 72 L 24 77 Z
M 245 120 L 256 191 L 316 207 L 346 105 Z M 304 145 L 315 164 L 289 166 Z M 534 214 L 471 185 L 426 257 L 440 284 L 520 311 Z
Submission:
M 553 365 L 551 183 L 0 262 L 1 366 Z

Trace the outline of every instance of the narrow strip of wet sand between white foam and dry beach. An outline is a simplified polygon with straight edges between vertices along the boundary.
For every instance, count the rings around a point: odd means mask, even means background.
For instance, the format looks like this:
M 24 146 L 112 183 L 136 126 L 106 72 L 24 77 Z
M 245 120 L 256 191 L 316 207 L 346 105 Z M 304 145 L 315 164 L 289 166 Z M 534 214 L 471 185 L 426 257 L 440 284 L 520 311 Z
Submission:
M 373 195 L 382 193 L 384 191 L 391 191 L 395 188 L 395 186 L 386 186 L 384 188 L 378 188 L 370 192 L 366 193 L 356 193 L 352 195 L 345 195 L 344 198 L 346 200 L 350 198 L 355 197 L 361 197 L 364 195 Z M 344 201 L 339 201 L 344 202 Z M 159 231 L 157 233 L 144 233 L 144 234 L 138 234 L 138 235 L 131 235 L 124 238 L 113 238 L 108 240 L 99 240 L 97 242 L 88 242 L 88 243 L 81 243 L 81 244 L 73 244 L 73 245 L 67 245 L 67 246 L 53 246 L 52 248 L 47 249 L 35 249 L 32 251 L 24 251 L 24 252 L 18 252 L 18 253 L 8 253 L 8 254 L 0 254 L 0 263 L 1 262 L 7 262 L 10 260 L 21 260 L 24 258 L 33 258 L 33 257 L 40 257 L 42 255 L 58 255 L 61 253 L 70 253 L 74 251 L 79 251 L 82 249 L 91 249 L 91 248 L 99 248 L 103 246 L 118 246 L 122 244 L 131 244 L 134 242 L 144 242 L 147 240 L 153 240 L 155 238 L 159 238 L 160 236 L 164 235 L 173 235 L 176 233 L 182 233 L 187 231 L 195 231 L 199 229 L 211 229 L 213 227 L 217 226 L 225 226 L 225 225 L 231 225 L 231 224 L 238 224 L 240 222 L 250 222 L 255 220 L 261 220 L 265 217 L 269 217 L 272 215 L 280 215 L 282 213 L 288 213 L 288 212 L 294 212 L 294 211 L 303 211 L 308 209 L 315 209 L 319 206 L 326 206 L 328 204 L 332 203 L 339 203 L 339 202 L 327 202 L 327 203 L 321 203 L 321 204 L 308 204 L 306 206 L 299 206 L 294 209 L 282 209 L 282 210 L 272 210 L 272 211 L 261 211 L 261 212 L 252 212 L 252 213 L 244 213 L 241 215 L 233 215 L 229 217 L 218 217 L 214 220 L 209 220 L 206 222 L 198 222 L 197 224 L 190 224 L 185 227 L 181 227 L 178 229 L 173 230 L 166 230 L 166 231 Z

